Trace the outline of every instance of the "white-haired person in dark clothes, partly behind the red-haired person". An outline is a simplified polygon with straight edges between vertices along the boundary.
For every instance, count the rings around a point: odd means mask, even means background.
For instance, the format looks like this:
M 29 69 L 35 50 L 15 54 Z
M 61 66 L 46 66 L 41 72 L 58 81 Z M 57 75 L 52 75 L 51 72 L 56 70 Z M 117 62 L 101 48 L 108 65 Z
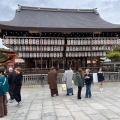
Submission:
M 8 83 L 9 83 L 9 95 L 10 95 L 10 102 L 12 103 L 14 100 L 13 96 L 13 90 L 14 90 L 14 77 L 15 73 L 13 71 L 13 68 L 9 68 L 9 73 L 8 73 Z

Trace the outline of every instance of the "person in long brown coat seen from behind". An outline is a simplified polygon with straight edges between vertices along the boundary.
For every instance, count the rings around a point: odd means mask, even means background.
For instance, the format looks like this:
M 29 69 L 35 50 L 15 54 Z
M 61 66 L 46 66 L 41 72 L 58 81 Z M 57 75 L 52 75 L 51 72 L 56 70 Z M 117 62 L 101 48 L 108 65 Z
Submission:
M 57 71 L 54 67 L 52 67 L 50 72 L 48 72 L 48 84 L 51 90 L 51 96 L 53 97 L 54 94 L 58 96 Z

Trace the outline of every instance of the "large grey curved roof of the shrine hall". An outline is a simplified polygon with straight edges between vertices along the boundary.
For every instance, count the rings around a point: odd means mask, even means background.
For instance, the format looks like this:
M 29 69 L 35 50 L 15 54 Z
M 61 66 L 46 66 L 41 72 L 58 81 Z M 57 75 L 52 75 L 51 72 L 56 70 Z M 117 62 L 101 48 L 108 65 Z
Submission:
M 55 9 L 19 6 L 14 19 L 1 21 L 0 28 L 89 31 L 95 29 L 119 29 L 120 25 L 103 20 L 96 9 Z

